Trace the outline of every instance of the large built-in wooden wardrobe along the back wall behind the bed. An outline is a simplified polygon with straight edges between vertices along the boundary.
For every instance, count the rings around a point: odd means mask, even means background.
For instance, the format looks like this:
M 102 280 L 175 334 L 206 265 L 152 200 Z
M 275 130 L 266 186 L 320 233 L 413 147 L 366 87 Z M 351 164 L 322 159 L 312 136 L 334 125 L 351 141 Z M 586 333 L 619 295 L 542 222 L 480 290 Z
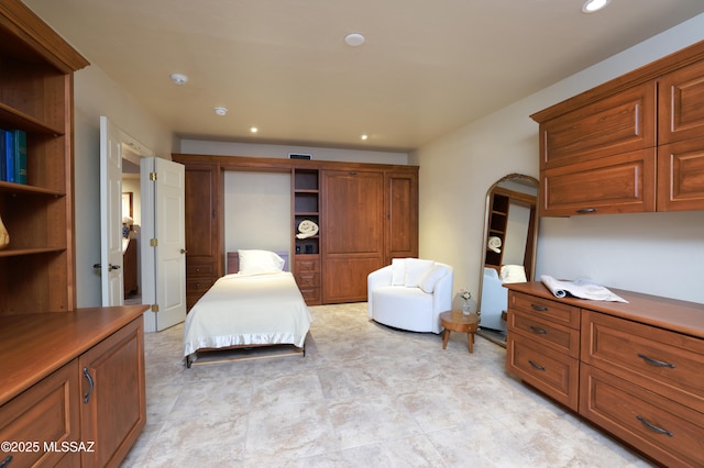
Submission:
M 366 301 L 366 277 L 418 256 L 418 167 L 174 154 L 186 166 L 188 307 L 223 275 L 226 170 L 292 175 L 292 270 L 312 304 Z M 302 220 L 316 236 L 296 238 Z

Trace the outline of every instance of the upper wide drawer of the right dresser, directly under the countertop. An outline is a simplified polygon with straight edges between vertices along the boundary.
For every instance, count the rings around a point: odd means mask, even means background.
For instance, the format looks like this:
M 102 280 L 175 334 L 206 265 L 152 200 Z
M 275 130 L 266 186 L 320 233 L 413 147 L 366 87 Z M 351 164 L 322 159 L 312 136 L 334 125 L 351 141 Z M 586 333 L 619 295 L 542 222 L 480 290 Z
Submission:
M 704 413 L 704 342 L 582 312 L 582 360 Z

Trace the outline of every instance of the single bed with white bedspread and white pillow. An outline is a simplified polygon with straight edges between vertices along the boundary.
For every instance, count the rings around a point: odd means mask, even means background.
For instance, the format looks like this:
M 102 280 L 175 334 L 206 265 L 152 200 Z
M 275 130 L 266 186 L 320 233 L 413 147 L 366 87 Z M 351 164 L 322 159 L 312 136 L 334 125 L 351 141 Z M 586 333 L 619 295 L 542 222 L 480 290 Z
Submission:
M 223 350 L 285 346 L 305 356 L 312 316 L 294 276 L 286 271 L 286 257 L 268 250 L 228 253 L 228 274 L 186 316 L 187 367 Z

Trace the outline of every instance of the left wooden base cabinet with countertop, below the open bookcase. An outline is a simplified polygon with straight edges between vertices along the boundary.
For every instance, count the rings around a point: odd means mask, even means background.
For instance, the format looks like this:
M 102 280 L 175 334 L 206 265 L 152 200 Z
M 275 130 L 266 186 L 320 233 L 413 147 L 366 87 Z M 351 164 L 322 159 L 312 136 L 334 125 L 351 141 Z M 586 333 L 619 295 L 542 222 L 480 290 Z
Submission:
M 146 308 L 0 317 L 0 463 L 120 464 L 146 423 Z

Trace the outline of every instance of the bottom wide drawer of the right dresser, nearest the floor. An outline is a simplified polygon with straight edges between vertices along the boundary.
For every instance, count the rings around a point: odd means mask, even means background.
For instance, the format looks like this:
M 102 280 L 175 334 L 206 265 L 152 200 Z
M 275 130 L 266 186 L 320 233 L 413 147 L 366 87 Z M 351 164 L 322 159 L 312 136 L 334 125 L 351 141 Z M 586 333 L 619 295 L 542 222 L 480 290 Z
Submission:
M 580 414 L 666 466 L 704 466 L 704 414 L 593 366 L 581 371 Z

